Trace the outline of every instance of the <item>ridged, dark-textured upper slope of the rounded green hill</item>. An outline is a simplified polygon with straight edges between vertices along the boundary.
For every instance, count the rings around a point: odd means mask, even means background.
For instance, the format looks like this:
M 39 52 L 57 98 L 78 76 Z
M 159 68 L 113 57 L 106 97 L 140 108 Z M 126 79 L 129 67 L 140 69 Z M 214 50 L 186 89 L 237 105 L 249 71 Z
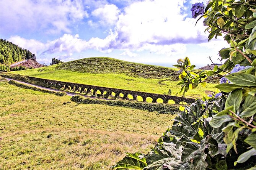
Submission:
M 55 69 L 93 74 L 125 74 L 131 77 L 179 80 L 177 70 L 172 68 L 132 63 L 107 57 L 84 58 L 60 63 L 56 65 Z

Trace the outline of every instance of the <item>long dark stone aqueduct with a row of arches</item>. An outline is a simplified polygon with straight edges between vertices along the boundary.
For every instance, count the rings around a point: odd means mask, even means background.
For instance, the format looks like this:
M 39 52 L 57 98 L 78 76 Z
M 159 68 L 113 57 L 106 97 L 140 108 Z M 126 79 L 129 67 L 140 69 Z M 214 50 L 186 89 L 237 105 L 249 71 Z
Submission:
M 170 95 L 160 95 L 155 93 L 146 93 L 146 92 L 140 92 L 140 91 L 132 91 L 132 90 L 122 90 L 117 88 L 108 88 L 108 87 L 99 87 L 99 86 L 93 86 L 93 85 L 85 85 L 80 83 L 70 83 L 70 82 L 61 82 L 57 80 L 48 80 L 48 79 L 41 79 L 36 77 L 29 77 L 29 76 L 11 76 L 8 75 L 3 77 L 11 78 L 11 79 L 17 79 L 20 81 L 24 81 L 27 83 L 34 83 L 39 86 L 43 87 L 53 87 L 57 89 L 67 90 L 67 88 L 71 88 L 73 92 L 78 91 L 80 93 L 85 93 L 87 95 L 88 93 L 93 90 L 93 95 L 95 96 L 102 96 L 103 98 L 108 98 L 112 92 L 115 93 L 114 98 L 120 98 L 120 94 L 123 94 L 122 99 L 128 99 L 128 95 L 132 96 L 132 100 L 137 100 L 137 96 L 141 96 L 143 101 L 146 102 L 146 98 L 152 98 L 152 103 L 156 103 L 157 99 L 163 99 L 163 103 L 168 103 L 169 100 L 173 100 L 176 104 L 179 104 L 180 102 L 186 102 L 186 103 L 193 103 L 195 99 L 193 98 L 183 98 L 178 96 L 170 96 Z M 100 91 L 101 95 L 97 95 L 96 92 Z M 103 95 L 104 94 L 104 95 Z M 138 101 L 138 100 L 137 100 Z

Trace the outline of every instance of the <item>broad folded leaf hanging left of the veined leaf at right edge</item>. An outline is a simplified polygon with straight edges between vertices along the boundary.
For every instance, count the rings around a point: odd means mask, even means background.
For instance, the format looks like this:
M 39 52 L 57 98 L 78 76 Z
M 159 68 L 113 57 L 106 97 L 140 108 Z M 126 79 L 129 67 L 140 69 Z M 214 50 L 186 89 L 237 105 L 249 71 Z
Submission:
M 237 89 L 229 93 L 228 98 L 225 103 L 225 107 L 234 106 L 235 112 L 240 107 L 240 103 L 243 99 L 243 90 Z

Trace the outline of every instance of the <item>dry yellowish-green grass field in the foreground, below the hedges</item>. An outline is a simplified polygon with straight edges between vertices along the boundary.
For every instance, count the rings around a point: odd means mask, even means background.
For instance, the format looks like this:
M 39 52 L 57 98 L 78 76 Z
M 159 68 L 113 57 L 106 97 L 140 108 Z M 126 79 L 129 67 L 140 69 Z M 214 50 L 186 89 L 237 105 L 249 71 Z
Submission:
M 70 102 L 0 82 L 0 169 L 109 169 L 149 151 L 174 115 Z

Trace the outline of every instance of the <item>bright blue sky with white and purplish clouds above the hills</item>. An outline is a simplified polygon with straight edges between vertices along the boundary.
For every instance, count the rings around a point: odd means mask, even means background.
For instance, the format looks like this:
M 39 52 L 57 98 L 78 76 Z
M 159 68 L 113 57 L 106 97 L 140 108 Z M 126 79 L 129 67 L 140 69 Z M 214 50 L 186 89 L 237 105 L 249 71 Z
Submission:
M 209 64 L 208 56 L 220 63 L 218 50 L 228 45 L 207 41 L 203 19 L 195 26 L 195 2 L 0 0 L 0 38 L 35 53 L 41 64 L 96 56 L 167 67 L 186 56 L 197 67 Z

